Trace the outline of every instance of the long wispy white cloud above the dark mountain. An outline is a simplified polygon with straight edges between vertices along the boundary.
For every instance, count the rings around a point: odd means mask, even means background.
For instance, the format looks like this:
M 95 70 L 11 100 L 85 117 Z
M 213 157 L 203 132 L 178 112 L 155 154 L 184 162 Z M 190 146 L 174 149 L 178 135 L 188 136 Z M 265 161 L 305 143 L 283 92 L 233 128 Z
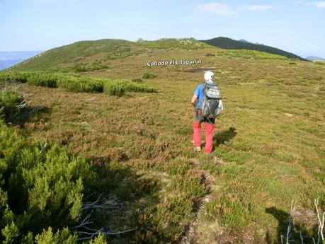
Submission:
M 233 15 L 239 13 L 240 11 L 266 11 L 268 9 L 274 8 L 274 6 L 270 5 L 240 5 L 238 7 L 232 7 L 226 4 L 220 3 L 208 3 L 208 4 L 200 4 L 198 6 L 198 11 L 201 12 L 210 12 L 215 13 L 217 15 Z

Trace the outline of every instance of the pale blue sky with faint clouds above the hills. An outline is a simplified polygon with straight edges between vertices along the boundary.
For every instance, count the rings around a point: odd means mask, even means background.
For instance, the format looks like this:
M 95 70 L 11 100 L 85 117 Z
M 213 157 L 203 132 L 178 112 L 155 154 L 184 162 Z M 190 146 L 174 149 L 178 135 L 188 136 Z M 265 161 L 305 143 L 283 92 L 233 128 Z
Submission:
M 219 36 L 325 58 L 325 1 L 0 0 L 0 51 Z

